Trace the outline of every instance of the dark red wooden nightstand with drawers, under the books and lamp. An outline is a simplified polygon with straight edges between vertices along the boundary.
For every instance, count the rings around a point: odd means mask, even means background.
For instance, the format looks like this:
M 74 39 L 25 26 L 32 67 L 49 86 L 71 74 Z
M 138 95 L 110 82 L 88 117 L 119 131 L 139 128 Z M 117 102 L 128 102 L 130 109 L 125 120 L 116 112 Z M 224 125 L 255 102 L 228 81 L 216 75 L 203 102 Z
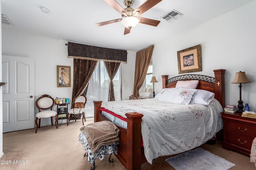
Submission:
M 256 119 L 242 117 L 242 113 L 221 112 L 223 119 L 222 148 L 250 155 L 256 137 Z

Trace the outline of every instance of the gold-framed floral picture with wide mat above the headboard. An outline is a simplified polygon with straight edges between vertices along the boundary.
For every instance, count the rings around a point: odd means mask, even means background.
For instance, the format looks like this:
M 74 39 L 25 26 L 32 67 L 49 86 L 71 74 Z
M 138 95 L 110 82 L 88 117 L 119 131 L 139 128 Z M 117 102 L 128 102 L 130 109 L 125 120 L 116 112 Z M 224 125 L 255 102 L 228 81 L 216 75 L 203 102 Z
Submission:
M 201 45 L 177 51 L 179 74 L 202 71 Z

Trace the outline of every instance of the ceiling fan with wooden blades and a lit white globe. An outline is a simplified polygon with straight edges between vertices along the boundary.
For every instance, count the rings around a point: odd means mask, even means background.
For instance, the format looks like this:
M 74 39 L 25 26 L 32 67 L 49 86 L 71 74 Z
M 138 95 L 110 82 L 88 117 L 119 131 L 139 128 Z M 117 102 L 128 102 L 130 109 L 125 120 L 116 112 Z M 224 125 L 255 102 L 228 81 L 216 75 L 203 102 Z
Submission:
M 103 0 L 108 5 L 110 5 L 112 8 L 117 10 L 121 15 L 122 18 L 118 18 L 115 20 L 105 21 L 96 23 L 97 26 L 107 25 L 110 23 L 115 23 L 121 21 L 122 25 L 124 26 L 124 35 L 130 33 L 131 29 L 134 28 L 138 23 L 143 23 L 147 25 L 157 26 L 160 21 L 158 20 L 152 20 L 148 18 L 139 17 L 141 14 L 158 4 L 162 0 L 147 0 L 139 6 L 137 9 L 132 8 L 133 0 L 124 0 L 124 6 L 126 8 L 124 9 L 120 4 L 118 4 L 115 0 Z

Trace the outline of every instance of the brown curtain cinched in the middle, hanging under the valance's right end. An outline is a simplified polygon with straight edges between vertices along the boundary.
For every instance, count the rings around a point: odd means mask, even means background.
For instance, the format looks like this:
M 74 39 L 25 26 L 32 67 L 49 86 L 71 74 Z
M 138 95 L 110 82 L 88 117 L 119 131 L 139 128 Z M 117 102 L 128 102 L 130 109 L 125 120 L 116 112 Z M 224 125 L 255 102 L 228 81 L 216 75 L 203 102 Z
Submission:
M 108 101 L 115 101 L 113 78 L 116 75 L 116 72 L 117 72 L 117 70 L 120 66 L 120 63 L 104 61 L 104 65 L 106 67 L 106 70 L 108 72 L 108 76 L 110 78 Z

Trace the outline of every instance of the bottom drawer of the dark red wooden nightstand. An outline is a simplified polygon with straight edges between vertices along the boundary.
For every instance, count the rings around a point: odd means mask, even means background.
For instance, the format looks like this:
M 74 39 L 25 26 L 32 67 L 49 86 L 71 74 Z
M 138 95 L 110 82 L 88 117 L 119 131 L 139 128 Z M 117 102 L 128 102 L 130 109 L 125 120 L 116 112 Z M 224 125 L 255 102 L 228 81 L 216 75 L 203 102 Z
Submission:
M 236 135 L 234 133 L 228 133 L 226 134 L 225 141 L 228 143 L 232 143 L 234 145 L 238 145 L 243 148 L 251 149 L 252 147 L 252 141 L 254 138 L 242 136 L 242 135 Z

